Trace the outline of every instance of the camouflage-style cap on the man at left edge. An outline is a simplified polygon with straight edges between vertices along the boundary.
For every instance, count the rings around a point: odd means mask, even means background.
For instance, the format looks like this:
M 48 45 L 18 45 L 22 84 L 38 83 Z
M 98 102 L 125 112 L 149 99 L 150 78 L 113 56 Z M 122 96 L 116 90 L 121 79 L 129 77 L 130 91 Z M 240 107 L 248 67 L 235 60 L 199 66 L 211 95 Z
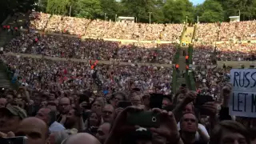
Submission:
M 26 110 L 18 107 L 18 106 L 6 106 L 6 107 L 2 107 L 0 108 L 0 112 L 2 110 L 7 110 L 9 111 L 11 114 L 13 114 L 14 116 L 18 116 L 19 118 L 26 118 Z

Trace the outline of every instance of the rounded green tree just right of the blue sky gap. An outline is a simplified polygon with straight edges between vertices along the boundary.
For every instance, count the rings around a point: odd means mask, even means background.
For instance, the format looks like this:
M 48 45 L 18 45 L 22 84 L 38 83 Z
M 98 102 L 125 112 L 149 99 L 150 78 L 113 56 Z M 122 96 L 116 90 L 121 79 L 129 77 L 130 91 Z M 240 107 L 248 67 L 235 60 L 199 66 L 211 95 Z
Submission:
M 206 0 L 195 10 L 200 22 L 222 22 L 224 20 L 222 5 L 215 0 Z

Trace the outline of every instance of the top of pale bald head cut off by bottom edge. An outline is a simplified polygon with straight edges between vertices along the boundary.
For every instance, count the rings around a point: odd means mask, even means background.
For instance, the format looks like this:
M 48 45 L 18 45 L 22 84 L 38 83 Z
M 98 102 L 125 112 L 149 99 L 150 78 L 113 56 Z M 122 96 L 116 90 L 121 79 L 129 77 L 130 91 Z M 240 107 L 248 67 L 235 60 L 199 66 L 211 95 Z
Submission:
M 91 134 L 87 133 L 78 133 L 71 135 L 70 138 L 66 139 L 64 144 L 100 144 L 97 138 Z

